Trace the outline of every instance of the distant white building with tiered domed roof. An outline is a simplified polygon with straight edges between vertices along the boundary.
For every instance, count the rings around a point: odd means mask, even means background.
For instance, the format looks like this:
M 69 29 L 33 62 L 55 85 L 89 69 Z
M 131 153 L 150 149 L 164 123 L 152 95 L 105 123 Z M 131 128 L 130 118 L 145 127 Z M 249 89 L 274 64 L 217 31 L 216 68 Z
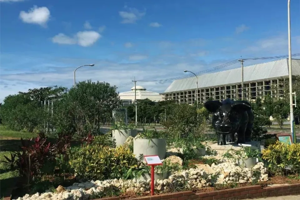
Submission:
M 137 90 L 137 99 L 150 99 L 151 101 L 162 101 L 162 95 L 159 93 L 151 92 L 151 91 L 146 91 L 146 88 L 142 86 L 136 86 Z M 119 97 L 123 103 L 123 105 L 130 105 L 134 104 L 134 99 L 135 99 L 135 87 L 131 88 L 131 91 L 128 92 L 123 92 L 119 94 Z

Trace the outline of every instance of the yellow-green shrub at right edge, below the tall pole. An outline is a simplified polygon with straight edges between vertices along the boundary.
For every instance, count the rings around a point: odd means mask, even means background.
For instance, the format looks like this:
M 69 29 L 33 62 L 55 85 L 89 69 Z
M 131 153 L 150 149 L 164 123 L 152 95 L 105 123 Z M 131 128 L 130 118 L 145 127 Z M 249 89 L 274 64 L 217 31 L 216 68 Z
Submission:
M 262 159 L 267 160 L 271 173 L 300 174 L 300 143 L 287 145 L 277 141 L 262 150 Z

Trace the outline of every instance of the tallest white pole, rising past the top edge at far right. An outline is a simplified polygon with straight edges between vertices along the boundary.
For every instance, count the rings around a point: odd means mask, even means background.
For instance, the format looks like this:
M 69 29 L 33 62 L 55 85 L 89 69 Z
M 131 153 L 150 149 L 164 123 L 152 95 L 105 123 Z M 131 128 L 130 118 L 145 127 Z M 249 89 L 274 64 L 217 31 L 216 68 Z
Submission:
M 290 19 L 290 0 L 287 1 L 287 24 L 288 24 L 288 77 L 290 86 L 290 124 L 291 124 L 291 135 L 293 138 L 293 121 L 294 121 L 294 111 L 293 111 L 293 94 L 292 94 L 292 47 L 291 47 L 291 19 Z

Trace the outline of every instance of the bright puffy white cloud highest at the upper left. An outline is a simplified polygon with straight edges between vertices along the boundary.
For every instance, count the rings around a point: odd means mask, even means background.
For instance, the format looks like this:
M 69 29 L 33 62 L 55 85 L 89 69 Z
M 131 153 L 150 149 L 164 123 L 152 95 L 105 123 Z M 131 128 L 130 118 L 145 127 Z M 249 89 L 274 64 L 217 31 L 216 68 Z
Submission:
M 24 23 L 38 24 L 46 27 L 50 18 L 50 11 L 47 7 L 37 7 L 34 5 L 28 12 L 21 11 L 19 17 Z

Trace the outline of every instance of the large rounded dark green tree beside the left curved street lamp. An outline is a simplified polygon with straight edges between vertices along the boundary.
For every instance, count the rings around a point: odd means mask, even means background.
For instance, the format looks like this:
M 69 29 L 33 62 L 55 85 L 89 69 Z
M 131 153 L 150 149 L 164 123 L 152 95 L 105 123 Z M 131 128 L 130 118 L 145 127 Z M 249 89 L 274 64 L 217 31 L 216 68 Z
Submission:
M 117 88 L 105 82 L 79 82 L 76 88 L 56 103 L 53 124 L 58 133 L 99 133 L 103 121 L 112 118 L 113 109 L 121 105 Z

